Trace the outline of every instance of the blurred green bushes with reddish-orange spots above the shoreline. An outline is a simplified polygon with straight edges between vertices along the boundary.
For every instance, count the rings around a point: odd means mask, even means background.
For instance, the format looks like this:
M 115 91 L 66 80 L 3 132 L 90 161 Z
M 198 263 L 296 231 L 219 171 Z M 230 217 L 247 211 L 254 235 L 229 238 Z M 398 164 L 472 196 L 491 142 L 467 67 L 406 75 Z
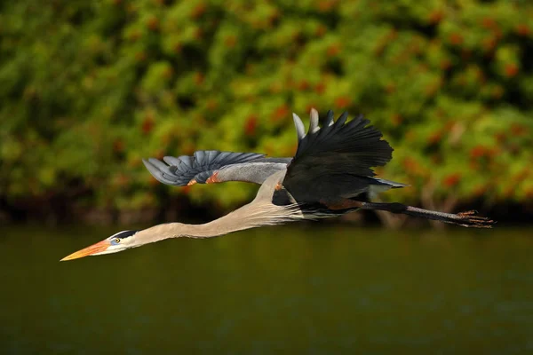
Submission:
M 0 13 L 0 198 L 156 206 L 140 159 L 293 154 L 291 112 L 366 114 L 394 200 L 533 197 L 526 1 L 20 0 Z M 428 186 L 431 189 L 428 190 Z M 168 189 L 230 207 L 243 185 Z

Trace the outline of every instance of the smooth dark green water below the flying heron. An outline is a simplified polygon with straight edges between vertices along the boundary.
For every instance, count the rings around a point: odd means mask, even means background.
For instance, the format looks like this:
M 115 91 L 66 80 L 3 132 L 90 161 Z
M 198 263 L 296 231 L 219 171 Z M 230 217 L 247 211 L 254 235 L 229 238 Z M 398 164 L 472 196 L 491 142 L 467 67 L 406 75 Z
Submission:
M 0 228 L 2 354 L 533 353 L 533 231 L 291 225 L 61 257 Z

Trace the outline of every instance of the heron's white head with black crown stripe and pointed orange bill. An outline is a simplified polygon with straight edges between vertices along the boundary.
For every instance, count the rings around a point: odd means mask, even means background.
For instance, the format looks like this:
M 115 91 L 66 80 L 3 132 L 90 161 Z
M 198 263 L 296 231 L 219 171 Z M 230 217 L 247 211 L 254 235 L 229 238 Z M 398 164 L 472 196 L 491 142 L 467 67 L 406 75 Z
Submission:
M 123 231 L 115 233 L 103 241 L 92 244 L 87 248 L 76 251 L 76 253 L 65 256 L 61 261 L 73 260 L 84 256 L 96 256 L 117 253 L 129 248 L 139 247 L 144 244 L 140 238 L 137 238 L 139 231 Z

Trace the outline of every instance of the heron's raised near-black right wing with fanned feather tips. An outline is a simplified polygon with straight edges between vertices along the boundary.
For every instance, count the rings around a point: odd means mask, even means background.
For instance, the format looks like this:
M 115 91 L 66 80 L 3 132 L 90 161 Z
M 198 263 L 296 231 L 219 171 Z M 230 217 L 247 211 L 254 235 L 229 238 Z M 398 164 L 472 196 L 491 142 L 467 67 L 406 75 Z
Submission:
M 298 115 L 298 150 L 282 185 L 298 202 L 332 201 L 349 198 L 376 185 L 373 167 L 392 159 L 393 148 L 381 139 L 382 134 L 362 116 L 346 122 L 341 114 L 336 122 L 329 111 L 322 128 L 313 110 L 307 134 Z

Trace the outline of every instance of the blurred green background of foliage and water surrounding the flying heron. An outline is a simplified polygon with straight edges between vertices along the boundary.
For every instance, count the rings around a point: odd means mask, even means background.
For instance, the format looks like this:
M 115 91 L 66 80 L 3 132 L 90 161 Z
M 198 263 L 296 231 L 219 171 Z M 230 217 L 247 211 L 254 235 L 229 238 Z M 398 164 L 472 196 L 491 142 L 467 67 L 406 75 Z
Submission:
M 353 213 L 364 227 L 59 263 L 250 201 L 257 186 L 159 184 L 141 158 L 290 156 L 311 107 L 383 131 L 379 176 L 410 184 L 384 201 L 497 228 Z M 530 1 L 0 1 L 0 353 L 529 354 L 531 162 Z

